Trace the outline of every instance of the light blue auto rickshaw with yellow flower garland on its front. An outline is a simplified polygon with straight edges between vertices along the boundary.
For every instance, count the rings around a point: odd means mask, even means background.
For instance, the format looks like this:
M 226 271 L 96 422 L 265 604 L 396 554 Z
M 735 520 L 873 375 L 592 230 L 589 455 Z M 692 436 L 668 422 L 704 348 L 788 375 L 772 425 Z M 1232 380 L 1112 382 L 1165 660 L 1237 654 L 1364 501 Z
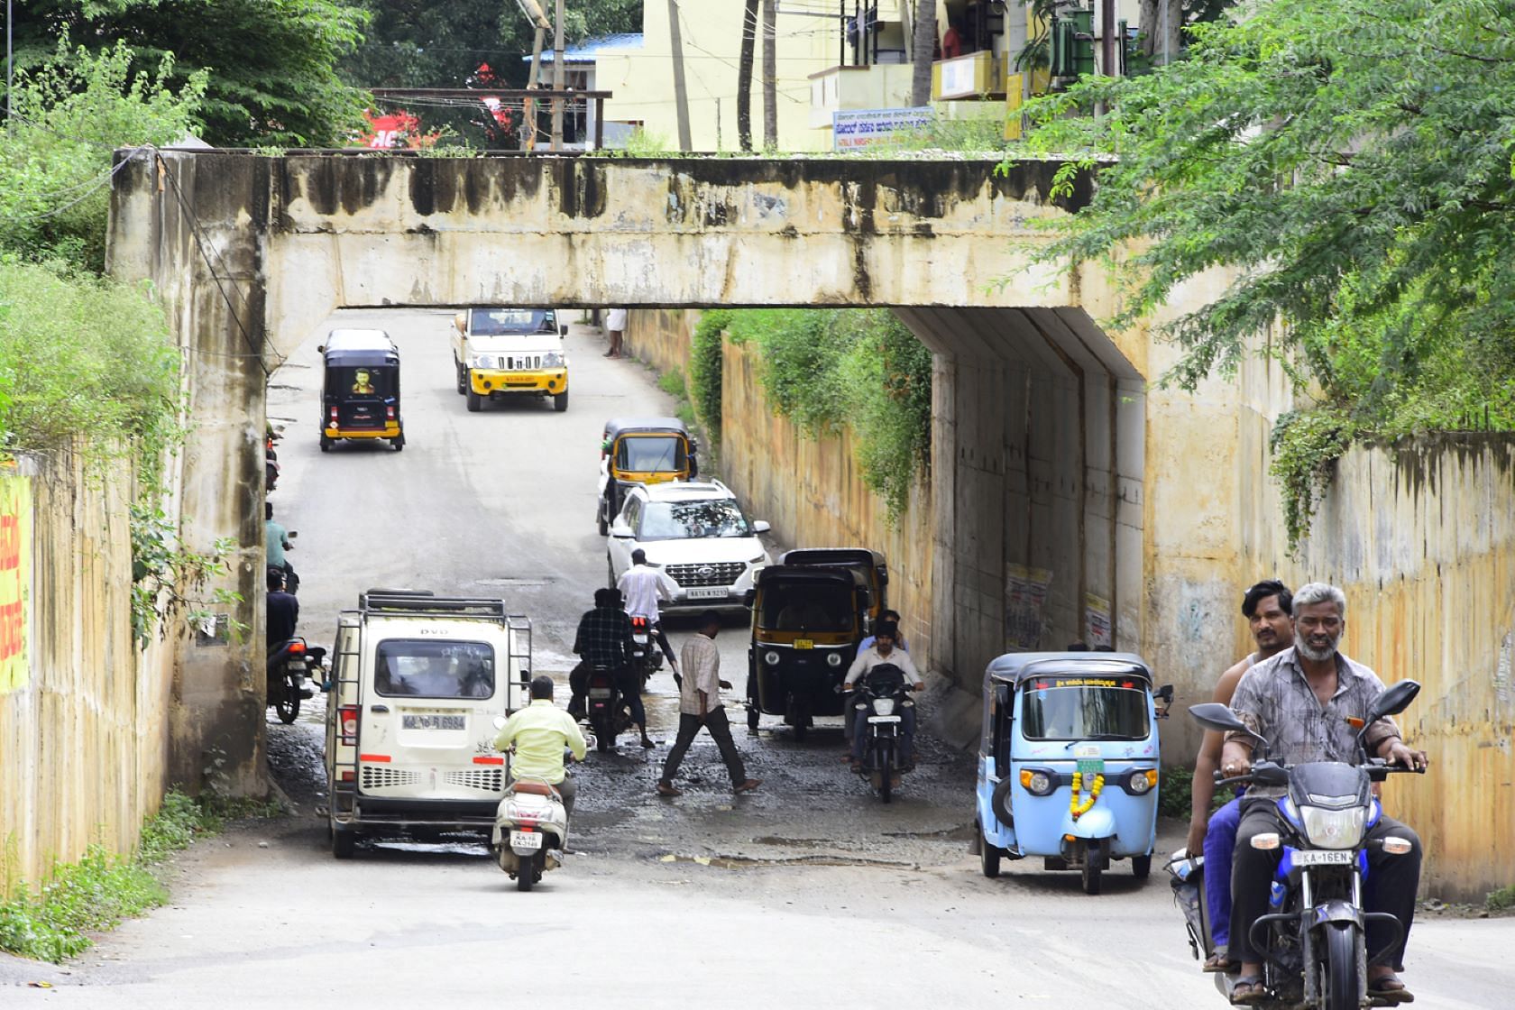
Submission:
M 983 675 L 977 825 L 985 877 L 1039 856 L 1100 893 L 1110 860 L 1138 880 L 1157 843 L 1157 719 L 1173 687 L 1129 653 L 1011 653 Z

